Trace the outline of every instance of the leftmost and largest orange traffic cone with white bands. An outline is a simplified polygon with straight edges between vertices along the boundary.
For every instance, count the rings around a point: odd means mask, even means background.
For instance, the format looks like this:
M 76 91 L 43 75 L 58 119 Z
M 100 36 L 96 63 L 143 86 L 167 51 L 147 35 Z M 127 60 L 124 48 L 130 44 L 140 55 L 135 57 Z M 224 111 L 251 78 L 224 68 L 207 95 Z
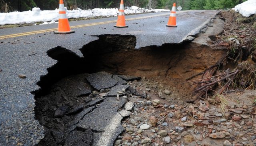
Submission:
M 54 31 L 55 34 L 70 34 L 75 31 L 70 30 L 68 24 L 68 18 L 66 15 L 66 9 L 64 7 L 63 0 L 60 0 L 60 12 L 59 12 L 59 24 L 58 24 L 58 31 Z

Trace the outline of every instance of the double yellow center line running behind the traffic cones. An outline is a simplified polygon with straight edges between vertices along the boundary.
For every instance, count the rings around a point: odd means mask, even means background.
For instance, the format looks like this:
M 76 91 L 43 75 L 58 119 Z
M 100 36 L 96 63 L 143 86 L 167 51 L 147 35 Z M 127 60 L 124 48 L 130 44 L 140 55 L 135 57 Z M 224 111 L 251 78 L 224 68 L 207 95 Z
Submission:
M 156 17 L 156 16 L 165 16 L 165 15 L 167 15 L 167 14 L 158 14 L 158 15 L 153 15 L 153 16 L 130 18 L 130 19 L 126 19 L 126 21 L 145 19 L 145 18 L 151 18 L 151 17 Z M 95 25 L 109 24 L 109 23 L 114 23 L 114 22 L 116 22 L 116 20 L 106 21 L 106 22 L 98 22 L 98 23 L 92 23 L 92 24 L 83 24 L 83 25 L 78 25 L 78 26 L 71 26 L 70 28 L 82 28 L 82 27 L 86 27 L 86 26 L 95 26 Z M 10 35 L 6 35 L 6 36 L 0 36 L 0 39 L 19 37 L 19 36 L 28 36 L 28 35 L 33 35 L 33 34 L 41 34 L 41 33 L 45 33 L 45 32 L 52 32 L 55 30 L 58 30 L 58 28 L 53 28 L 53 29 L 48 29 L 48 30 L 38 30 L 38 31 L 34 31 L 34 32 L 24 32 L 24 33 L 19 33 L 19 34 L 10 34 Z

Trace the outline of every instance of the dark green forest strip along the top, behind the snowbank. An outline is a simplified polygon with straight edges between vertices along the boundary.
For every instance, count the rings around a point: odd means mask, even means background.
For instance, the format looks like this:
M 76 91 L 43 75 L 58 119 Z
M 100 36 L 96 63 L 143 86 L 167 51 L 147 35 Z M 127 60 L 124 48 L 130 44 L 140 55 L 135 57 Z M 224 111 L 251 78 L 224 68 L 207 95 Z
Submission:
M 176 2 L 182 10 L 216 10 L 234 8 L 246 0 L 124 0 L 125 6 L 138 6 L 147 9 L 171 9 Z M 64 0 L 68 10 L 80 8 L 119 8 L 120 0 Z M 0 12 L 26 11 L 38 7 L 41 10 L 55 10 L 59 7 L 59 0 L 0 0 Z

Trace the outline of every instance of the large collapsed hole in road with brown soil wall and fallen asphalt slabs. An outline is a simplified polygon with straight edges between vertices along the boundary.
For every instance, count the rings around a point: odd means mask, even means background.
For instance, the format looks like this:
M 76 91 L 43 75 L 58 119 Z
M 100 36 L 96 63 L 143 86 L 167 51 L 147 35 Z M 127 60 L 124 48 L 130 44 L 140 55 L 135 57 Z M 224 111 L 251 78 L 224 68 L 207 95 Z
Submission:
M 175 98 L 190 99 L 193 86 L 181 83 L 226 55 L 225 50 L 197 43 L 134 49 L 135 36 L 98 37 L 80 49 L 84 57 L 62 47 L 47 52 L 58 62 L 41 77 L 41 89 L 33 92 L 36 119 L 45 128 L 40 146 L 113 145 L 123 130 L 120 120 L 125 115 L 120 111 L 124 104 L 129 97 L 144 98 L 134 83 L 151 80 L 158 85 L 146 86 L 154 89 L 155 96 L 159 96 L 159 86 L 163 86 Z M 106 130 L 115 122 L 114 131 Z

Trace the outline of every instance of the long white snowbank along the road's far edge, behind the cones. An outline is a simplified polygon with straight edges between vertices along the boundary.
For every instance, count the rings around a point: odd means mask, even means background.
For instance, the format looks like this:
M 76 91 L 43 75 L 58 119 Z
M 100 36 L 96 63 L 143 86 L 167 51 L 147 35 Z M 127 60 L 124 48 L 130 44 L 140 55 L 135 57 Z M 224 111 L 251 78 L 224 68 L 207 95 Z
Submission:
M 136 6 L 126 7 L 125 14 L 149 13 L 149 12 L 169 12 L 165 9 L 144 9 Z M 30 24 L 34 22 L 44 22 L 42 24 L 52 24 L 58 21 L 59 10 L 40 10 L 33 8 L 32 11 L 0 13 L 0 25 L 5 24 Z M 68 18 L 95 18 L 95 17 L 113 17 L 118 15 L 118 8 L 95 8 L 92 10 L 66 10 Z M 57 22 L 58 23 L 58 22 Z

